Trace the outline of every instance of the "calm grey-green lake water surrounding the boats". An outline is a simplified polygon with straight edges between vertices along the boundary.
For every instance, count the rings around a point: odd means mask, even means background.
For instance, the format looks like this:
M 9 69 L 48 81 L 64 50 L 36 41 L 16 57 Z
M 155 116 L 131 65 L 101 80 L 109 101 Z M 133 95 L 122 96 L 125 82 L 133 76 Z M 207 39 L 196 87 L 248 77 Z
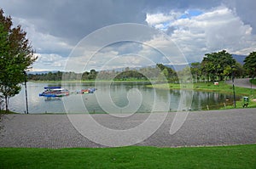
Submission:
M 232 104 L 232 95 L 211 92 L 161 90 L 146 87 L 145 82 L 97 83 L 96 92 L 72 93 L 67 97 L 47 99 L 39 97 L 44 87 L 60 86 L 57 83 L 27 83 L 29 113 L 133 113 L 169 110 L 207 110 Z M 77 91 L 95 87 L 94 83 L 67 83 L 62 87 Z M 182 97 L 183 96 L 183 97 Z M 192 99 L 193 96 L 193 99 Z M 183 99 L 181 99 L 183 98 Z M 192 101 L 188 101 L 191 99 Z M 183 103 L 187 102 L 187 103 Z M 178 107 L 182 105 L 182 109 Z M 24 113 L 26 110 L 24 86 L 18 95 L 9 100 L 9 110 Z

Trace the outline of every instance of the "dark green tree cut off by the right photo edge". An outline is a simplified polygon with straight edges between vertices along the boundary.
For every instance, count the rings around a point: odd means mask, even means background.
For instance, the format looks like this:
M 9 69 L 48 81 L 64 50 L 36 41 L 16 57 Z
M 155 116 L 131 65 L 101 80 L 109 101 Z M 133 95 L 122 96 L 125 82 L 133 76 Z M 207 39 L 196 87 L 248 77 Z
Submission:
M 247 70 L 249 76 L 256 76 L 256 52 L 250 53 L 246 59 L 244 59 L 244 69 Z

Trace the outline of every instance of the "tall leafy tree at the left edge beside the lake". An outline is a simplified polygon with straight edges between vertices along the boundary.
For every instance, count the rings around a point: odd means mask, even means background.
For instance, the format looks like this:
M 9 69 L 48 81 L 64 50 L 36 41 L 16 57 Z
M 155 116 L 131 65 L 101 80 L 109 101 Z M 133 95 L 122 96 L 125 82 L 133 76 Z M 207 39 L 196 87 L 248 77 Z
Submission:
M 0 95 L 5 100 L 8 111 L 9 98 L 20 92 L 20 83 L 24 82 L 24 71 L 37 59 L 26 32 L 20 25 L 12 28 L 10 16 L 3 15 L 0 8 Z

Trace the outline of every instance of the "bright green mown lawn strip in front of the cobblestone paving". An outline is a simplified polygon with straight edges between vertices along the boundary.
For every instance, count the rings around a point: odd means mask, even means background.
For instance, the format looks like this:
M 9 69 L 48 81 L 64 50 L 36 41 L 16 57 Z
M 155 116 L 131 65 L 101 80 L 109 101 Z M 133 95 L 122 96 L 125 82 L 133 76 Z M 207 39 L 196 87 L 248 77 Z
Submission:
M 98 149 L 1 148 L 0 168 L 255 168 L 256 144 Z

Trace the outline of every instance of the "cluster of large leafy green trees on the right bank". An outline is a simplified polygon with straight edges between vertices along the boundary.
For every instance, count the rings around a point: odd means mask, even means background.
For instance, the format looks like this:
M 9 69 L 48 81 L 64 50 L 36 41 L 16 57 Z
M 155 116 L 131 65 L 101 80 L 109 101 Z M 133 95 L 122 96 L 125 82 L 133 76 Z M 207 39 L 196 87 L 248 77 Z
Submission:
M 250 53 L 244 60 L 244 65 L 236 62 L 231 54 L 222 50 L 218 53 L 205 54 L 201 63 L 192 63 L 190 71 L 192 81 L 224 81 L 236 78 L 256 75 L 256 52 Z

